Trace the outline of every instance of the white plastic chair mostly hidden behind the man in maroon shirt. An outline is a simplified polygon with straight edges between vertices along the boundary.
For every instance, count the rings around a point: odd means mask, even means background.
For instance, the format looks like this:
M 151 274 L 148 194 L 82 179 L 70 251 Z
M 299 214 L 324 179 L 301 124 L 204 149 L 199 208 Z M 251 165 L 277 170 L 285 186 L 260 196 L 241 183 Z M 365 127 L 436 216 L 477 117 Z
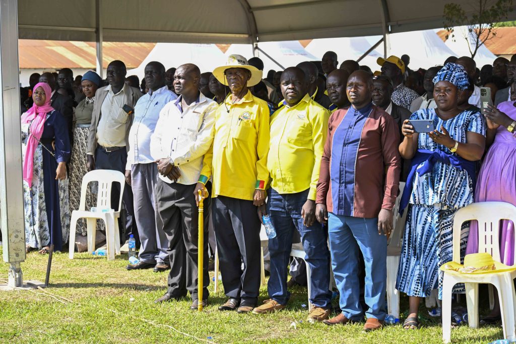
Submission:
M 396 275 L 398 273 L 399 256 L 401 253 L 401 238 L 405 230 L 405 222 L 407 221 L 407 212 L 405 209 L 403 216 L 399 216 L 399 201 L 401 194 L 405 189 L 405 183 L 399 183 L 399 195 L 394 204 L 394 230 L 389 237 L 387 244 L 387 312 L 395 318 L 399 318 L 399 291 L 396 289 Z

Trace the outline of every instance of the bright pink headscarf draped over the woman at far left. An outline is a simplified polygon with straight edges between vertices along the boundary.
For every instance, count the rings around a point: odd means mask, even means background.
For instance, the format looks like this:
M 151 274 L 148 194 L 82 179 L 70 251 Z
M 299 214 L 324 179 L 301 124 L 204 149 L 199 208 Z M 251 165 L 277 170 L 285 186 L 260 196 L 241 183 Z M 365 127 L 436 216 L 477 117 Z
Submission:
M 50 106 L 50 99 L 52 97 L 52 89 L 47 83 L 38 83 L 34 86 L 33 94 L 41 87 L 45 91 L 46 100 L 42 106 L 33 104 L 33 106 L 22 115 L 22 124 L 30 123 L 30 135 L 27 140 L 27 148 L 25 150 L 25 160 L 23 160 L 23 180 L 32 186 L 32 177 L 34 169 L 34 152 L 38 146 L 38 141 L 43 134 L 43 127 L 46 120 L 46 114 L 53 111 L 54 108 Z

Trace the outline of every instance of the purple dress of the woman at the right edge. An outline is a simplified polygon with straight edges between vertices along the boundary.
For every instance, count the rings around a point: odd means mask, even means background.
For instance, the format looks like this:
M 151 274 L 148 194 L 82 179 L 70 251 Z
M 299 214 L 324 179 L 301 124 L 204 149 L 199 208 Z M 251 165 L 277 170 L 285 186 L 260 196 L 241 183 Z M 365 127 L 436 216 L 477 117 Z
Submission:
M 498 105 L 498 109 L 516 120 L 514 102 Z M 516 137 L 504 126 L 496 129 L 494 142 L 486 154 L 478 174 L 475 202 L 507 202 L 516 205 Z M 500 258 L 503 264 L 514 262 L 514 224 L 500 221 Z M 478 252 L 478 222 L 472 221 L 466 254 Z

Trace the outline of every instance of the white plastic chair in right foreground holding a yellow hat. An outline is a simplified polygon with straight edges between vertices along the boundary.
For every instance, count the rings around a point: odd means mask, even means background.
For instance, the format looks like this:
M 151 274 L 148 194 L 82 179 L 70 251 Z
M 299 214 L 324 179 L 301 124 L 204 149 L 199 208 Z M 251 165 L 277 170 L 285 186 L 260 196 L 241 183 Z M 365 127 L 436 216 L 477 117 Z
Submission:
M 460 234 L 465 221 L 478 221 L 478 252 L 490 253 L 495 261 L 500 261 L 499 222 L 511 220 L 516 223 L 516 207 L 505 202 L 473 203 L 459 209 L 453 223 L 453 261 L 460 263 Z M 478 327 L 478 284 L 492 284 L 498 290 L 504 338 L 516 339 L 514 313 L 516 295 L 513 279 L 516 272 L 493 272 L 488 274 L 451 274 L 444 272 L 442 323 L 443 341 L 450 342 L 451 337 L 451 295 L 457 283 L 464 283 L 466 288 L 467 315 L 469 325 Z

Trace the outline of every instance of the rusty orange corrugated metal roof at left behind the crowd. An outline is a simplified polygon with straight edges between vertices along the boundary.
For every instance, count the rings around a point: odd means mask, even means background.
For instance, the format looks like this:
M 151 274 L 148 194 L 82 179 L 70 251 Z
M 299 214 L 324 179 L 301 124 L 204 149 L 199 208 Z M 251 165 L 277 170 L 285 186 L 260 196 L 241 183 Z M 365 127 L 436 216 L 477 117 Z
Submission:
M 136 68 L 149 55 L 155 43 L 104 42 L 103 68 L 113 60 Z M 18 43 L 20 69 L 95 68 L 95 43 L 21 39 Z

